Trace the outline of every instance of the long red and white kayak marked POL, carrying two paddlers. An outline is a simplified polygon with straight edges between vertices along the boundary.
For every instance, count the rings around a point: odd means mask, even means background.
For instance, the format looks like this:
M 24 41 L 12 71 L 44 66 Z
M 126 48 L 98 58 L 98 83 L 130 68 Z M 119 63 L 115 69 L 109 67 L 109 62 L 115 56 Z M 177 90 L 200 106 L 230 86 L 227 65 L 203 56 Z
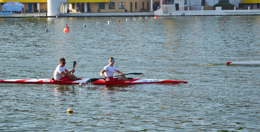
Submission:
M 0 80 L 0 83 L 36 83 L 36 84 L 86 84 L 90 78 L 82 78 L 78 80 L 69 81 L 54 81 L 52 79 L 6 79 Z M 144 84 L 144 83 L 158 83 L 158 84 L 177 84 L 177 83 L 188 83 L 186 81 L 175 81 L 175 80 L 159 80 L 159 79 L 140 79 L 130 78 L 128 80 L 121 81 L 105 81 L 99 79 L 92 82 L 92 85 L 129 85 L 129 84 Z

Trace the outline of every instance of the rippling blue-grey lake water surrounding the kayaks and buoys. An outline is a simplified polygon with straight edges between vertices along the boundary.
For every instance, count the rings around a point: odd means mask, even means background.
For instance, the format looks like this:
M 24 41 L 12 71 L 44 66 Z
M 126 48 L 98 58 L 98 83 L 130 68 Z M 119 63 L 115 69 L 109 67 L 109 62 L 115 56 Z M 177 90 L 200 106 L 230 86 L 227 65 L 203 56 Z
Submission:
M 114 57 L 144 73 L 127 77 L 188 82 L 0 84 L 0 130 L 260 131 L 260 66 L 226 65 L 260 61 L 259 29 L 260 16 L 0 19 L 2 80 L 53 78 L 61 57 L 78 78 L 101 78 Z

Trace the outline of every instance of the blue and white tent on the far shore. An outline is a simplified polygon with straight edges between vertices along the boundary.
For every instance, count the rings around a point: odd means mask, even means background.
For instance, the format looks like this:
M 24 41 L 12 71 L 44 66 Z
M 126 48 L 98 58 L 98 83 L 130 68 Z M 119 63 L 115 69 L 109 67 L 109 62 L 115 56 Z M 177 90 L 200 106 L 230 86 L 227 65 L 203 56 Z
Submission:
M 22 11 L 22 8 L 24 8 L 24 5 L 19 2 L 7 2 L 2 5 L 2 11 Z

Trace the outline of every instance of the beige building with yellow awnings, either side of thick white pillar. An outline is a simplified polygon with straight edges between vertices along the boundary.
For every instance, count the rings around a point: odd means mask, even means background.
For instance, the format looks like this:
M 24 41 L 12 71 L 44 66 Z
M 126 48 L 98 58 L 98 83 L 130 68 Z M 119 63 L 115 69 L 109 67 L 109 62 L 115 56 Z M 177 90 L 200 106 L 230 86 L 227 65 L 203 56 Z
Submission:
M 67 0 L 70 12 L 150 12 L 161 0 Z M 0 8 L 10 0 L 0 0 Z M 25 12 L 47 12 L 47 0 L 18 0 Z M 152 5 L 151 5 L 152 2 Z M 62 5 L 61 5 L 62 6 Z M 85 7 L 87 6 L 87 7 Z M 86 10 L 86 11 L 85 11 Z M 66 13 L 67 11 L 61 10 Z

